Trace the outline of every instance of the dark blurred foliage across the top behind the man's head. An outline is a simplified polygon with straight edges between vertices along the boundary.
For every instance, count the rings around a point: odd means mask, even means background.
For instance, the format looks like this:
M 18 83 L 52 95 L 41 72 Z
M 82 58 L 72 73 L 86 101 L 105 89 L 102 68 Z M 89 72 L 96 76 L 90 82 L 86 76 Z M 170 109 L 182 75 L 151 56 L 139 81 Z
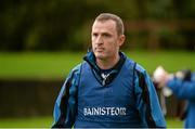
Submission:
M 2 0 L 0 50 L 86 50 L 101 12 L 136 24 L 127 28 L 126 49 L 195 48 L 194 0 Z

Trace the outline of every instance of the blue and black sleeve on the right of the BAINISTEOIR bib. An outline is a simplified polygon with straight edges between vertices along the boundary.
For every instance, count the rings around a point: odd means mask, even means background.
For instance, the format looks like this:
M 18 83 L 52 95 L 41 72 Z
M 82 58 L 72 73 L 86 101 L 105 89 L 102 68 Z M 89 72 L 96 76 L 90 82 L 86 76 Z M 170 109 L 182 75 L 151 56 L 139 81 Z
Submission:
M 134 86 L 136 108 L 140 117 L 147 128 L 165 128 L 166 121 L 162 115 L 155 87 L 143 69 L 135 69 Z

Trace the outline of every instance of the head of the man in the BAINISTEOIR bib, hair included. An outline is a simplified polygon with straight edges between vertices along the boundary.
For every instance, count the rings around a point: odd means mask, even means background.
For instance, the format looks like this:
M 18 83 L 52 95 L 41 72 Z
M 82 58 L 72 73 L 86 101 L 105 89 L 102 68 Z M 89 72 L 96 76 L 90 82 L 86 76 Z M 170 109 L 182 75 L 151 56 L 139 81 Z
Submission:
M 100 14 L 92 26 L 92 49 L 95 57 L 106 60 L 116 57 L 125 41 L 123 23 L 115 14 Z

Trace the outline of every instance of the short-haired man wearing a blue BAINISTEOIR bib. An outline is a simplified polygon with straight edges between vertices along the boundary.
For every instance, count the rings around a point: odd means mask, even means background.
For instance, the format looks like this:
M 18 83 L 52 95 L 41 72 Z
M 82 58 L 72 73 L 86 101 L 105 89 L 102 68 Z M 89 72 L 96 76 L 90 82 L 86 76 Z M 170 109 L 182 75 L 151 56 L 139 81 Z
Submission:
M 53 127 L 166 127 L 150 76 L 119 48 L 123 24 L 100 14 L 92 26 L 92 51 L 67 77 L 54 107 Z

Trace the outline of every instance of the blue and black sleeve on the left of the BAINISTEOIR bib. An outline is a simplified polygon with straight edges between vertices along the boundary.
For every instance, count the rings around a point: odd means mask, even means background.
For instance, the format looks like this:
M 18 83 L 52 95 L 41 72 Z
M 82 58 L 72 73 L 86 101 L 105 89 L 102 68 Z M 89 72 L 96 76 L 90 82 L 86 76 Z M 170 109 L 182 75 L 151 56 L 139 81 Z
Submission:
M 77 88 L 79 82 L 79 68 L 75 68 L 66 78 L 53 111 L 52 128 L 72 128 L 77 115 Z

